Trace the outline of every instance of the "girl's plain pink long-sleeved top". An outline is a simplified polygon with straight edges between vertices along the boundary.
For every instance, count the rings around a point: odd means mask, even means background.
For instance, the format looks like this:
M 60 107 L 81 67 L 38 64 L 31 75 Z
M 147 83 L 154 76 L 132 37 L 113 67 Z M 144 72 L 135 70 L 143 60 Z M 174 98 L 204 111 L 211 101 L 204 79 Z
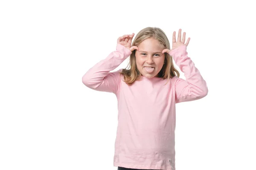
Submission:
M 117 44 L 116 51 L 82 77 L 87 87 L 116 94 L 118 126 L 113 166 L 175 170 L 175 103 L 201 99 L 208 93 L 205 80 L 187 56 L 186 45 L 169 53 L 184 73 L 169 79 L 142 77 L 133 85 L 114 71 L 131 51 Z M 166 84 L 166 85 L 165 85 Z

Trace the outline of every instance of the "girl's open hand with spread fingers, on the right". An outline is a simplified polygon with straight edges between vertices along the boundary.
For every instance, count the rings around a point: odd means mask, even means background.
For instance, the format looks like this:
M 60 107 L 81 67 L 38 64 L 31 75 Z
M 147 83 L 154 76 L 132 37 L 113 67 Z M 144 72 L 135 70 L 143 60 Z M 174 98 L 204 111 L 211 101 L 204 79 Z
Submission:
M 186 44 L 184 44 L 185 39 L 186 39 L 186 32 L 183 32 L 183 37 L 182 37 L 182 40 L 181 40 L 181 29 L 179 29 L 179 34 L 178 34 L 177 42 L 176 42 L 176 36 L 175 36 L 175 34 L 176 34 L 176 32 L 174 31 L 173 34 L 172 34 L 172 49 L 169 50 L 168 48 L 166 48 L 166 49 L 164 49 L 164 50 L 162 51 L 162 53 L 169 53 L 169 52 L 171 52 L 172 50 L 174 50 L 175 48 L 180 47 L 181 45 L 186 45 L 186 46 L 189 45 L 189 40 L 190 40 L 190 38 L 188 38 Z

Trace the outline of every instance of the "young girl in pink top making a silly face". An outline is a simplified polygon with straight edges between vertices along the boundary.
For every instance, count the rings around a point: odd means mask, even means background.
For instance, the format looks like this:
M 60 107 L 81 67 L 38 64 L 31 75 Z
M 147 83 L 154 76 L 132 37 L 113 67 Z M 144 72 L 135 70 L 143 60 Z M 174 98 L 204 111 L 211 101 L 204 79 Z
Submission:
M 113 166 L 118 170 L 175 170 L 175 104 L 201 99 L 205 80 L 187 56 L 185 35 L 175 31 L 172 49 L 166 34 L 147 27 L 135 37 L 117 40 L 116 51 L 82 77 L 88 88 L 112 92 L 118 101 L 118 126 Z M 130 56 L 129 69 L 117 68 Z M 184 73 L 179 78 L 172 59 Z M 133 168 L 133 169 L 132 169 Z

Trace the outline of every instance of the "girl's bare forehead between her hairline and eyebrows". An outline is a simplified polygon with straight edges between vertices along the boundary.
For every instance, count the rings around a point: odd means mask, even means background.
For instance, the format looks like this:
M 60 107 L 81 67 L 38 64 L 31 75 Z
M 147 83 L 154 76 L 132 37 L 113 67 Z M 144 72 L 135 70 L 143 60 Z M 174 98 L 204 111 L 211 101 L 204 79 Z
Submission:
M 163 50 L 163 45 L 160 44 L 160 42 L 154 38 L 148 38 L 143 40 L 139 45 L 140 51 L 158 51 Z

